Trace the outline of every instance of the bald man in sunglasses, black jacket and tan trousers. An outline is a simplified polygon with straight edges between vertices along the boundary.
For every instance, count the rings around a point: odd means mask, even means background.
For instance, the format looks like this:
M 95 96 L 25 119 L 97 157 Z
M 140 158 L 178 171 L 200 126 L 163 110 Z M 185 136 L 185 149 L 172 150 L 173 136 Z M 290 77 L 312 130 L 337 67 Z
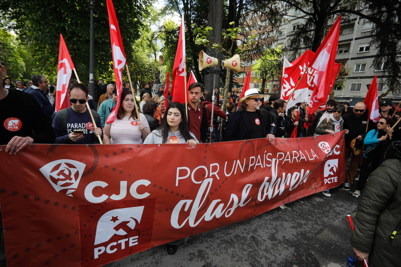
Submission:
M 356 175 L 358 165 L 363 157 L 363 153 L 355 155 L 350 143 L 353 139 L 356 139 L 357 143 L 360 143 L 359 148 L 362 149 L 363 139 L 369 130 L 375 128 L 375 124 L 370 122 L 368 125 L 368 130 L 366 130 L 366 124 L 369 120 L 368 112 L 366 106 L 363 102 L 358 102 L 355 104 L 352 113 L 345 114 L 344 118 L 344 129 L 348 129 L 349 132 L 345 135 L 345 159 L 346 161 L 351 157 L 350 167 L 348 168 L 348 173 L 345 178 L 345 183 L 342 187 L 345 191 L 349 191 L 352 185 L 352 179 Z

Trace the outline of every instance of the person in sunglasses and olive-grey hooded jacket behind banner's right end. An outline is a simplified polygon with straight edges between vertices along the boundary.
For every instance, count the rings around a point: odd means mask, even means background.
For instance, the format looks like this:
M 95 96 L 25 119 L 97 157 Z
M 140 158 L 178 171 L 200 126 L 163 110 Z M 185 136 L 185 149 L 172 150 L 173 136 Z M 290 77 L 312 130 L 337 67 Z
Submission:
M 318 127 L 316 127 L 315 133 L 317 135 L 332 135 L 336 136 L 336 132 L 340 132 L 344 130 L 343 124 L 344 120 L 341 117 L 341 114 L 345 112 L 345 108 L 343 105 L 337 105 L 333 114 L 330 114 L 326 120 L 323 120 Z M 349 131 L 345 130 L 347 134 Z M 322 192 L 326 197 L 331 197 L 330 191 L 327 189 Z

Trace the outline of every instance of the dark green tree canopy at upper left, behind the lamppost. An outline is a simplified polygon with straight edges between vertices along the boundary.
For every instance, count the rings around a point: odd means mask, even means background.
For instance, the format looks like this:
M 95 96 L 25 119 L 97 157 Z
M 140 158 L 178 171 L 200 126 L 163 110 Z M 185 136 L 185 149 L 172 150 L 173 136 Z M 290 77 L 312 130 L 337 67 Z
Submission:
M 143 20 L 148 18 L 151 0 L 114 0 L 127 61 L 133 60 L 132 44 L 140 37 Z M 89 80 L 89 2 L 84 0 L 2 0 L 0 15 L 12 22 L 8 30 L 14 30 L 18 40 L 32 54 L 32 74 L 44 74 L 55 80 L 59 54 L 59 34 L 63 34 L 79 78 Z M 95 76 L 103 78 L 111 72 L 112 60 L 109 37 L 109 19 L 106 1 L 95 1 L 94 10 L 94 58 Z M 114 80 L 114 78 L 113 78 Z

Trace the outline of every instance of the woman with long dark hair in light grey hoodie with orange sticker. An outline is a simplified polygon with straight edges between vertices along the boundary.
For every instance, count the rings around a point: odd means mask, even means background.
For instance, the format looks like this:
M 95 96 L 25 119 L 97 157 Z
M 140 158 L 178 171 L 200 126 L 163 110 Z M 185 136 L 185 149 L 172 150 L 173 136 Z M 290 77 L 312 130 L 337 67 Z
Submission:
M 168 105 L 162 123 L 146 137 L 144 144 L 189 144 L 194 148 L 199 144 L 190 132 L 184 107 L 178 102 Z

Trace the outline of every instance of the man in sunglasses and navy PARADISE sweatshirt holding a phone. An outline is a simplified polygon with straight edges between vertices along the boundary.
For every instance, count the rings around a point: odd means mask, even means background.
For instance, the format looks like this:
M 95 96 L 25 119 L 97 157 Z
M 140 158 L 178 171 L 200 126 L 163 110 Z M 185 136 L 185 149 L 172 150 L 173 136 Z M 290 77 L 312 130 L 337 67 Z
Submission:
M 97 135 L 103 139 L 100 117 L 95 110 L 88 110 L 88 88 L 80 83 L 69 86 L 69 98 L 71 106 L 56 113 L 53 120 L 53 128 L 56 132 L 57 144 L 94 144 L 98 142 Z M 94 127 L 89 112 L 95 118 Z M 82 130 L 82 133 L 74 133 L 74 130 Z

